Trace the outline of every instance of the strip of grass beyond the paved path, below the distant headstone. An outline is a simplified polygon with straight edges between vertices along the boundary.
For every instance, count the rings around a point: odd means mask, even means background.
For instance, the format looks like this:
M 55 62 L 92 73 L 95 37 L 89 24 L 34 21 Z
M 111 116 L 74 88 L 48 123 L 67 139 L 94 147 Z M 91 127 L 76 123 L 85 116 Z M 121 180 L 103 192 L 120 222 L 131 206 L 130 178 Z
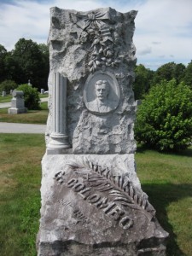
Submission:
M 20 114 L 9 114 L 8 108 L 2 108 L 0 109 L 0 122 L 44 125 L 49 112 L 47 104 L 47 102 L 42 102 L 41 110 L 28 110 L 27 113 Z

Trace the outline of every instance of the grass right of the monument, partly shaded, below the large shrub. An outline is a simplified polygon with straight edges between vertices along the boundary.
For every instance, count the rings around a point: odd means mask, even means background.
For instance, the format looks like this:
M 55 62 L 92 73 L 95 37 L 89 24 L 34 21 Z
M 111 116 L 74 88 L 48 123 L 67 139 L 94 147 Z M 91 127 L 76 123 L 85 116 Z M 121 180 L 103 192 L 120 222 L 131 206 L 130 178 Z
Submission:
M 192 148 L 182 154 L 160 154 L 138 149 L 137 174 L 170 233 L 167 254 L 192 255 Z

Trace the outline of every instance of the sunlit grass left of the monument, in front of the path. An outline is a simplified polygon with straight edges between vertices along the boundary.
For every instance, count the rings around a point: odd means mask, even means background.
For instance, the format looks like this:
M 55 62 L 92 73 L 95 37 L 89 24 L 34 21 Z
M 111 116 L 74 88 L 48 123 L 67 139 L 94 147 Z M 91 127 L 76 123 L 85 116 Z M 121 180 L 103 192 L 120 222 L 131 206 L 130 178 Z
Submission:
M 44 135 L 0 135 L 0 255 L 36 255 Z

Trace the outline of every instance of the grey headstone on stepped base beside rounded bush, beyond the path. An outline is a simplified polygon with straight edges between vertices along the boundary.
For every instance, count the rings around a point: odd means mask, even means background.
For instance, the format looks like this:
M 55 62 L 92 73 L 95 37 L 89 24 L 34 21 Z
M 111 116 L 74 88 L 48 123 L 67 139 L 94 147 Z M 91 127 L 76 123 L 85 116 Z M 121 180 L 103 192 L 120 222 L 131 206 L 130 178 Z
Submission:
M 24 103 L 24 93 L 22 90 L 13 90 L 11 100 L 11 108 L 8 109 L 8 113 L 16 114 L 16 113 L 26 113 L 27 108 L 25 108 Z

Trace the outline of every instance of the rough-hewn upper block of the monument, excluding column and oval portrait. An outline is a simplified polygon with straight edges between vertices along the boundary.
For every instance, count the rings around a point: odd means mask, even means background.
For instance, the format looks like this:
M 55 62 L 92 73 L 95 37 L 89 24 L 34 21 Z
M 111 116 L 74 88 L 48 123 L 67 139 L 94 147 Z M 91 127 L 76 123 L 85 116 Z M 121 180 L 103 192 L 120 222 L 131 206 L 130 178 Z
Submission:
M 92 14 L 51 9 L 48 142 L 52 131 L 53 74 L 59 72 L 68 79 L 67 135 L 73 153 L 135 151 L 132 130 L 136 107 L 132 80 L 136 58 L 132 36 L 136 15 L 136 11 L 121 14 L 110 8 L 96 9 Z M 94 76 L 96 72 L 106 79 L 111 73 L 117 80 L 119 105 L 113 113 L 96 116 L 85 106 L 84 85 L 89 75 Z

